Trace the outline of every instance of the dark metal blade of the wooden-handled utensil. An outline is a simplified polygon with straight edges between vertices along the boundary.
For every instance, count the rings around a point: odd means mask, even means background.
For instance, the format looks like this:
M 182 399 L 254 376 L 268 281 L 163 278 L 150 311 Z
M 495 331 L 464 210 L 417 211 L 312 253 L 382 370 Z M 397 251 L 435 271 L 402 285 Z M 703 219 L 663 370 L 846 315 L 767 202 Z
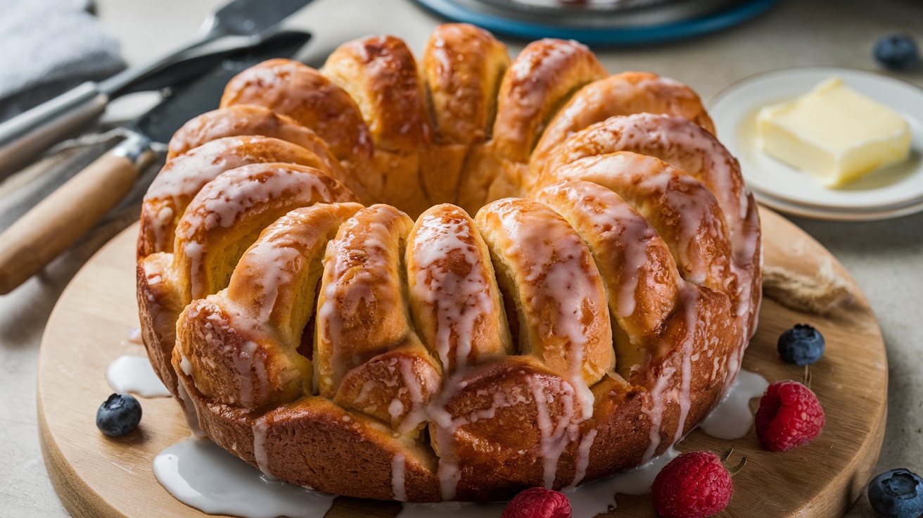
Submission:
M 166 143 L 186 121 L 218 108 L 224 85 L 231 78 L 271 57 L 293 55 L 309 39 L 310 34 L 306 32 L 283 31 L 252 49 L 231 54 L 210 72 L 171 89 L 166 99 L 126 127 L 151 142 Z

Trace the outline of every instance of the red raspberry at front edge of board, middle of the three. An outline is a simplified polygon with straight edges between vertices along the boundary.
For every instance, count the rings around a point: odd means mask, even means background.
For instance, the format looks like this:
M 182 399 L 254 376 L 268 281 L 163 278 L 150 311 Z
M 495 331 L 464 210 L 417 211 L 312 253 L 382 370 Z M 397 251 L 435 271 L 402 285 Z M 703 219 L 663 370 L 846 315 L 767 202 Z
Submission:
M 734 487 L 713 452 L 679 455 L 653 479 L 653 508 L 665 518 L 705 518 L 722 512 Z

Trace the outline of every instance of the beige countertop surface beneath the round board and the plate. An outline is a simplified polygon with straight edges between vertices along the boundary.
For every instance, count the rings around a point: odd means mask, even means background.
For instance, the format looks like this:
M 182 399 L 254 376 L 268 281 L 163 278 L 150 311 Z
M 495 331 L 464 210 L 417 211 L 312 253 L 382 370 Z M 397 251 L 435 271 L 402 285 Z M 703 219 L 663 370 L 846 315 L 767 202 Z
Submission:
M 102 23 L 139 63 L 188 39 L 221 0 L 98 0 Z M 299 57 L 318 65 L 340 42 L 389 32 L 419 52 L 439 21 L 410 0 L 318 0 L 290 26 L 315 37 Z M 743 25 L 695 40 L 599 51 L 612 72 L 647 70 L 677 78 L 710 98 L 751 74 L 789 66 L 877 67 L 881 35 L 910 30 L 923 42 L 923 6 L 915 0 L 782 0 Z M 509 42 L 510 52 L 521 42 Z M 923 86 L 923 66 L 896 77 Z M 42 329 L 54 301 L 93 251 L 130 216 L 98 229 L 10 295 L 0 295 L 0 515 L 66 516 L 39 448 L 35 372 Z M 792 218 L 843 262 L 868 296 L 888 350 L 889 408 L 877 471 L 923 473 L 923 213 L 873 223 Z M 0 245 L 2 246 L 2 245 Z M 854 382 L 861 383 L 861 379 Z M 93 416 L 87 416 L 92 419 Z M 871 517 L 865 498 L 848 514 Z

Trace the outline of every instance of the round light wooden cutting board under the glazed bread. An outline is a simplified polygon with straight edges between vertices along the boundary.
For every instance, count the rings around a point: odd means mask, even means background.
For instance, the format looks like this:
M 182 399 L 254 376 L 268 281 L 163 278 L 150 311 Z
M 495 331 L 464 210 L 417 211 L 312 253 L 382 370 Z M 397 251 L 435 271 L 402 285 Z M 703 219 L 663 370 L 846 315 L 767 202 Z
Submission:
M 816 241 L 772 211 L 761 211 L 765 266 L 808 279 L 830 271 L 845 280 L 854 301 L 821 317 L 763 299 L 760 326 L 744 368 L 770 382 L 802 379 L 803 368 L 784 364 L 775 350 L 782 331 L 796 323 L 817 327 L 826 354 L 811 367 L 811 388 L 827 416 L 821 436 L 789 452 L 761 448 L 751 428 L 740 440 L 716 440 L 699 430 L 680 451 L 746 455 L 734 477 L 734 498 L 720 516 L 763 518 L 842 516 L 868 483 L 881 450 L 887 406 L 887 360 L 881 331 L 868 302 L 843 267 Z M 67 510 L 78 517 L 205 516 L 167 493 L 151 461 L 189 436 L 179 406 L 169 398 L 140 399 L 141 425 L 111 439 L 95 426 L 96 409 L 112 393 L 105 370 L 119 355 L 143 355 L 128 341 L 138 328 L 135 239 L 126 229 L 79 271 L 54 308 L 39 355 L 39 424 L 45 464 Z M 755 409 L 757 400 L 750 402 Z M 618 517 L 653 517 L 648 497 L 619 496 Z M 328 517 L 392 517 L 395 502 L 340 498 Z

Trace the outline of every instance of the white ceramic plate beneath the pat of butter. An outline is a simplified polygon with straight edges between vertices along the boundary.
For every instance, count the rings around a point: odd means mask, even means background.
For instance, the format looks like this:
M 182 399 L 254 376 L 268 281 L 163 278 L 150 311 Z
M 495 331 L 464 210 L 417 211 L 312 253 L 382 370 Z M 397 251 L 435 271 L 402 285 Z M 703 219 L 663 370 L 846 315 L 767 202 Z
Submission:
M 911 154 L 905 162 L 844 187 L 829 188 L 760 151 L 756 142 L 760 108 L 803 95 L 831 76 L 843 78 L 850 88 L 904 116 L 912 133 Z M 840 221 L 923 211 L 923 90 L 910 83 L 851 68 L 789 68 L 740 80 L 718 92 L 708 105 L 718 135 L 737 156 L 754 195 L 775 209 L 814 218 L 831 212 L 823 219 Z

